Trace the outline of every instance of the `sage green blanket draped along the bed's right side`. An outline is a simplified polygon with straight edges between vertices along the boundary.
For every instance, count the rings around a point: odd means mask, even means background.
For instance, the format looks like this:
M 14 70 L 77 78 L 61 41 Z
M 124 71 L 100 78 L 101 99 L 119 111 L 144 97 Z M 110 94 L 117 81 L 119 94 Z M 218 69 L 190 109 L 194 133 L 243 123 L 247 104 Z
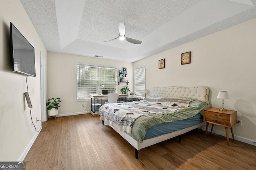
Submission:
M 132 126 L 132 138 L 142 143 L 146 135 L 146 131 L 150 127 L 154 125 L 160 125 L 162 123 L 169 123 L 177 120 L 188 119 L 198 113 L 202 115 L 202 111 L 209 107 L 211 106 L 207 103 L 201 102 L 199 100 L 194 100 L 190 102 L 188 107 L 179 109 L 177 111 L 141 116 L 136 119 L 134 125 Z

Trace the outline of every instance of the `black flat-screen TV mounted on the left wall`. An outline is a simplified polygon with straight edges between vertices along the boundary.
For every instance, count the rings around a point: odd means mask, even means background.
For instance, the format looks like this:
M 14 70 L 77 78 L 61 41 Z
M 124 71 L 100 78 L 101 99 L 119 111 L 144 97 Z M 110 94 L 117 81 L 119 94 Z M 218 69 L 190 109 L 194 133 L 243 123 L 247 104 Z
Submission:
M 20 31 L 10 22 L 13 72 L 36 76 L 35 50 Z

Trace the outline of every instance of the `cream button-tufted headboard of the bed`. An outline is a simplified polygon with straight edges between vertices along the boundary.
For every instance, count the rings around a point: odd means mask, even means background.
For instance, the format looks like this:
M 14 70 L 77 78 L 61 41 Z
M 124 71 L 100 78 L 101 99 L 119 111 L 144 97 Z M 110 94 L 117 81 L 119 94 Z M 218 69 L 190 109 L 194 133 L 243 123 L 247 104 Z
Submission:
M 150 98 L 164 98 L 164 97 L 181 97 L 201 100 L 209 104 L 208 100 L 209 88 L 205 86 L 200 87 L 152 87 L 150 90 Z

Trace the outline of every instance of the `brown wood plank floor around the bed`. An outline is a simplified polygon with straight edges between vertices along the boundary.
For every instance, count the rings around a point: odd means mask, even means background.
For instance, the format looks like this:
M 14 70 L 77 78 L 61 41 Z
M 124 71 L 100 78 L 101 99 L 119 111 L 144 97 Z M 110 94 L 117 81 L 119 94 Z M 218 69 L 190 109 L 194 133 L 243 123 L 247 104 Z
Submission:
M 91 114 L 48 119 L 28 152 L 27 170 L 227 169 L 256 168 L 256 147 L 195 129 L 139 150 Z M 236 132 L 234 132 L 236 133 Z

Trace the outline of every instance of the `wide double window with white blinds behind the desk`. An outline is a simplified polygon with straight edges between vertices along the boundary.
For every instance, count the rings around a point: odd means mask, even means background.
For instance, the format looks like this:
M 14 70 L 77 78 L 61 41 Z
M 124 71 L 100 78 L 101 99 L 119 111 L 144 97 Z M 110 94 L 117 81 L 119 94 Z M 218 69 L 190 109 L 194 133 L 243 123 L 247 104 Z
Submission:
M 76 100 L 90 99 L 90 94 L 117 91 L 117 68 L 76 63 Z

